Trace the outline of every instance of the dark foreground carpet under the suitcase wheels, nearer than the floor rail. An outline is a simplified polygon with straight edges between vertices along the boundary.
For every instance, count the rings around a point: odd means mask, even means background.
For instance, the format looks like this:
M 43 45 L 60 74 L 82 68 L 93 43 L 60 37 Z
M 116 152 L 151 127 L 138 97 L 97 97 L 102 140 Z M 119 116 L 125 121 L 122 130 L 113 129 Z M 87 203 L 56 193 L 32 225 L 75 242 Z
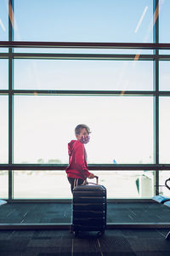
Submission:
M 106 230 L 75 238 L 68 230 L 0 231 L 0 255 L 3 256 L 169 256 L 168 230 Z

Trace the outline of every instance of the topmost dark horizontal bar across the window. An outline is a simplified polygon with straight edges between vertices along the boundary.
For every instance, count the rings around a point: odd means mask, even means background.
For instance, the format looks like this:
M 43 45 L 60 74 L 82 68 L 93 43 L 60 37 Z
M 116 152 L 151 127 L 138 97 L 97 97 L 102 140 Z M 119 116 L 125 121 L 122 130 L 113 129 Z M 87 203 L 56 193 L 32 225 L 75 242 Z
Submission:
M 79 43 L 79 42 L 32 42 L 32 41 L 1 41 L 0 47 L 24 48 L 96 48 L 96 49 L 170 49 L 170 44 L 151 43 Z

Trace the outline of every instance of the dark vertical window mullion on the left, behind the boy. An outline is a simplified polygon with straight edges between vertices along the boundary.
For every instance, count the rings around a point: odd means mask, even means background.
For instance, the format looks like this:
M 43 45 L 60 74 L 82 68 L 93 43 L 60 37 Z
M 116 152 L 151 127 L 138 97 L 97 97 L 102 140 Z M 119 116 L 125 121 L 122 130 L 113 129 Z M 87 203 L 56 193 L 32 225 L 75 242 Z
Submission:
M 8 41 L 13 41 L 13 0 L 8 0 Z M 13 163 L 13 49 L 8 49 L 8 164 Z M 8 170 L 8 201 L 13 199 L 13 171 Z

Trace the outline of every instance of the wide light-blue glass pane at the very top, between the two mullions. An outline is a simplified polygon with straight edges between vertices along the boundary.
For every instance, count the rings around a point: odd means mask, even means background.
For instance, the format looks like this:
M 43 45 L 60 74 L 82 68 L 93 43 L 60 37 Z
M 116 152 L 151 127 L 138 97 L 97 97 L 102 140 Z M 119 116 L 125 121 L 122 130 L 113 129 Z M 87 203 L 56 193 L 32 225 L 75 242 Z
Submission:
M 14 40 L 152 42 L 152 2 L 15 0 Z

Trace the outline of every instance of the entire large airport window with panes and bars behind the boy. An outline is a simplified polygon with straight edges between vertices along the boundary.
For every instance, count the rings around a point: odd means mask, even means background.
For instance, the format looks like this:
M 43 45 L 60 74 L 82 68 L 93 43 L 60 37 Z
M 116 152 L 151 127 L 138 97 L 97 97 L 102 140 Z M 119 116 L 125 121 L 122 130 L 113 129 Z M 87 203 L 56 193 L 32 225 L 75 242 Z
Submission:
M 71 199 L 67 147 L 81 123 L 92 131 L 89 171 L 108 198 L 161 193 L 170 170 L 169 4 L 0 1 L 0 197 Z

